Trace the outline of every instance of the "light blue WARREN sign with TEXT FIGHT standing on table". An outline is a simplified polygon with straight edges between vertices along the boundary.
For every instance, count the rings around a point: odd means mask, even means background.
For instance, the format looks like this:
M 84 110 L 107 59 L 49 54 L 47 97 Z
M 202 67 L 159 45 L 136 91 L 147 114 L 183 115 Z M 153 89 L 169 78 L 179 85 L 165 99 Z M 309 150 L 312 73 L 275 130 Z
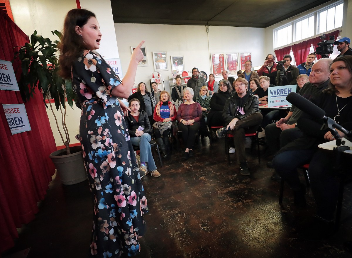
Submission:
M 296 85 L 275 86 L 268 88 L 268 107 L 290 107 L 291 103 L 286 97 L 291 92 L 296 92 Z

